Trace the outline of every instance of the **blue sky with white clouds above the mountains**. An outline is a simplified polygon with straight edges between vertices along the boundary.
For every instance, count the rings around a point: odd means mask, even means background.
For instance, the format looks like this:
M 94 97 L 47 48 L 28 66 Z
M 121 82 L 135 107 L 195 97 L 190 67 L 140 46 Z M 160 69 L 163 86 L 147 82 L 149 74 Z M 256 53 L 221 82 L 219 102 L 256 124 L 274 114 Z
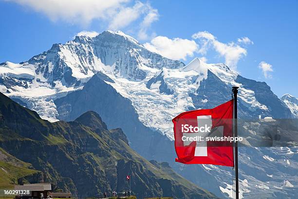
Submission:
M 94 13 L 76 0 L 60 8 L 51 7 L 55 4 L 51 2 L 22 2 L 0 0 L 0 62 L 28 60 L 83 30 L 112 28 L 170 58 L 184 58 L 185 63 L 194 57 L 205 57 L 208 63 L 228 62 L 243 77 L 266 81 L 279 97 L 285 93 L 298 97 L 298 1 L 118 0 L 114 4 L 100 1 L 99 7 L 96 0 L 85 1 L 96 7 Z M 77 16 L 75 9 L 80 8 L 87 11 Z M 199 37 L 192 37 L 195 33 Z M 213 39 L 207 39 L 206 34 Z M 244 37 L 249 41 L 238 41 Z M 189 53 L 159 46 L 162 41 Z M 266 74 L 259 67 L 261 62 Z

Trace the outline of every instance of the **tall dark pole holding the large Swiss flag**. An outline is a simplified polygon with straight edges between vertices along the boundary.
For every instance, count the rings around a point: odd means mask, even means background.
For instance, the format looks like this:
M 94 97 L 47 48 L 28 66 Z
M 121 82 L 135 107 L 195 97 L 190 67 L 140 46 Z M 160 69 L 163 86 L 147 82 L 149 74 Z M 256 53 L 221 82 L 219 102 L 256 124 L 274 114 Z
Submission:
M 237 86 L 232 87 L 234 96 L 234 137 L 238 137 L 237 132 Z M 239 199 L 239 182 L 238 182 L 238 141 L 235 141 L 235 181 L 236 181 L 236 199 Z

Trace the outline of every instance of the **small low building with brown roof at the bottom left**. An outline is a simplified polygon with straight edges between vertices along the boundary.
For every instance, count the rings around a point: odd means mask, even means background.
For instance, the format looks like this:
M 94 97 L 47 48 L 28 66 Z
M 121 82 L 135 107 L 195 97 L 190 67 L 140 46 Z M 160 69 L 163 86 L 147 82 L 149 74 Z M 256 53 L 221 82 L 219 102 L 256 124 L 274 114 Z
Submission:
M 18 195 L 21 199 L 46 199 L 48 198 L 48 193 L 52 191 L 52 184 L 37 183 L 16 185 L 15 190 L 23 191 L 23 193 L 29 191 L 29 194 Z

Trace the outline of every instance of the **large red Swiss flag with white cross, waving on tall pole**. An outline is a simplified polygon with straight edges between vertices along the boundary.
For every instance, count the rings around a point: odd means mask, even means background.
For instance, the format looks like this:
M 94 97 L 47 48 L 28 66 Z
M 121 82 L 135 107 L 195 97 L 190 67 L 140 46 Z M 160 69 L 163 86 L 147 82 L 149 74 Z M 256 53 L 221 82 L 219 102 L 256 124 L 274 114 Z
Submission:
M 234 166 L 233 142 L 226 140 L 233 137 L 233 104 L 230 100 L 172 119 L 177 162 Z

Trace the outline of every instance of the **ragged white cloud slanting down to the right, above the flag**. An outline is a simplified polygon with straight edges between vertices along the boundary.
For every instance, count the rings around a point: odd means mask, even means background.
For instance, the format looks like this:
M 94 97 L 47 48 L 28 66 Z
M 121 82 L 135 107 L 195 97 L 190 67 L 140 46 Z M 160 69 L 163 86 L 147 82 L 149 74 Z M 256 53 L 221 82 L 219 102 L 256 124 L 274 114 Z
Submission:
M 224 57 L 225 64 L 233 70 L 237 70 L 238 61 L 247 54 L 246 49 L 242 46 L 234 42 L 220 42 L 216 37 L 207 31 L 195 33 L 192 35 L 192 38 L 198 39 L 201 42 L 201 48 L 198 51 L 199 53 L 205 55 L 207 51 L 213 47 L 221 57 Z

